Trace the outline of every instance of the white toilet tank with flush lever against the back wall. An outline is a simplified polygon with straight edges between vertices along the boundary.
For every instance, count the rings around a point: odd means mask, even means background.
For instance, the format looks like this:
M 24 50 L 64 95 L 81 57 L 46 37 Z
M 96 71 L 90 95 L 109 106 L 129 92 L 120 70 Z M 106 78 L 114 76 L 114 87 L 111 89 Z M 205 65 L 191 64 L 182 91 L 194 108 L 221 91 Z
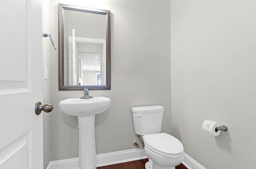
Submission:
M 133 107 L 132 116 L 135 133 L 139 135 L 160 133 L 163 112 L 163 106 Z

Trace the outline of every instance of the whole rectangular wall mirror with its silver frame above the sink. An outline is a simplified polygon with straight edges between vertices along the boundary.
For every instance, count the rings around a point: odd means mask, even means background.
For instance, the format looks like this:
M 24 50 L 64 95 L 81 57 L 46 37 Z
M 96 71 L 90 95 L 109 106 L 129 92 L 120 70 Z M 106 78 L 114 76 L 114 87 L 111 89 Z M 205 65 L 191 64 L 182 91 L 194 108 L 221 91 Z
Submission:
M 110 11 L 58 7 L 59 90 L 110 90 Z

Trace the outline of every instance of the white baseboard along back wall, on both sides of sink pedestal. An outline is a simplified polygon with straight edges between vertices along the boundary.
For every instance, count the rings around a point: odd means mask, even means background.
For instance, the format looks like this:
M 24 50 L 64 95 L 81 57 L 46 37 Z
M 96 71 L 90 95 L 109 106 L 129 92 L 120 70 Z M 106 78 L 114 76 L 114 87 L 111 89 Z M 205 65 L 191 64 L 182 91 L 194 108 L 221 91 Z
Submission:
M 104 153 L 96 155 L 96 167 L 146 159 L 144 150 L 129 149 L 124 151 L 116 151 L 112 153 Z M 79 159 L 64 159 L 51 161 L 46 169 L 79 169 Z

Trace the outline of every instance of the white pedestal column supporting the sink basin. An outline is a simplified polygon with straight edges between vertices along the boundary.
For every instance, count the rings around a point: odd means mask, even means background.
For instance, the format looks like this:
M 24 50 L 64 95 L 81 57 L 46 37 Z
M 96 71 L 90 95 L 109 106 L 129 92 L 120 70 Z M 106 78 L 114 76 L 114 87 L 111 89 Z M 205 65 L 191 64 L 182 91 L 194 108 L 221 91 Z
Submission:
M 78 116 L 79 169 L 96 169 L 95 166 L 95 115 Z

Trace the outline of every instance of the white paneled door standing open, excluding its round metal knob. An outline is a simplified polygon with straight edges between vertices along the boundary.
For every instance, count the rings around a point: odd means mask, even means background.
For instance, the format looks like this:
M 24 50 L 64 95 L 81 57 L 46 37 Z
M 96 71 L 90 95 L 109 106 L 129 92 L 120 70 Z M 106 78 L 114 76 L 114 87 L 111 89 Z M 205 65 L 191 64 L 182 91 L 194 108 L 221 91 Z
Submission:
M 42 169 L 42 1 L 0 1 L 0 169 Z

